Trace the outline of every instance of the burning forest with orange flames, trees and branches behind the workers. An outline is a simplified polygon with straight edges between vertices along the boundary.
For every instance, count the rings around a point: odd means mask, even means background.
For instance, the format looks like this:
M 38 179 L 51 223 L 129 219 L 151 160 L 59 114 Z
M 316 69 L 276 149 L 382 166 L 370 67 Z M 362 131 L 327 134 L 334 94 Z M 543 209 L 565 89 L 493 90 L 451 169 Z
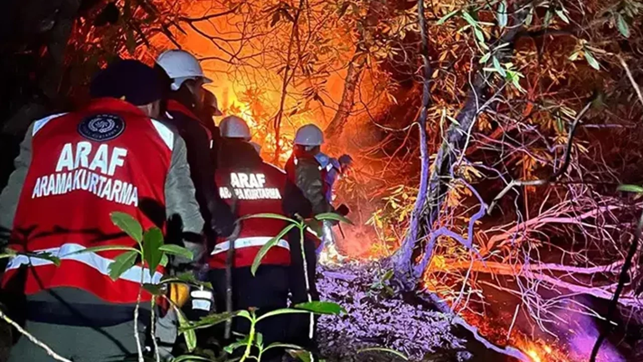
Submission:
M 332 278 L 375 273 L 347 278 L 523 361 L 589 361 L 600 336 L 592 362 L 643 359 L 641 1 L 80 3 L 3 44 L 6 165 L 28 122 L 81 104 L 99 68 L 182 48 L 266 162 L 284 167 L 308 123 L 324 153 L 354 159 Z

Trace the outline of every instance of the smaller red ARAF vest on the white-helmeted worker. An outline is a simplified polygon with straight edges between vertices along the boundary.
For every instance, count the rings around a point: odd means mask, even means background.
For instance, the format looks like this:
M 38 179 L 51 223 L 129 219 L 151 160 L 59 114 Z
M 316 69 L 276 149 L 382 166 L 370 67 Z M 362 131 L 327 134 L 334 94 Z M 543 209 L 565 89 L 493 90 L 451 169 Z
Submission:
M 215 176 L 219 185 L 219 195 L 233 207 L 239 218 L 259 213 L 284 214 L 282 198 L 287 178 L 284 171 L 277 167 L 264 162 L 256 169 L 217 169 Z M 237 197 L 236 204 L 232 193 Z M 261 247 L 287 225 L 284 220 L 275 218 L 242 220 L 239 236 L 234 240 L 234 266 L 251 266 Z M 218 238 L 210 255 L 210 267 L 226 267 L 228 249 L 230 241 Z M 285 236 L 271 247 L 261 263 L 290 265 L 290 245 Z

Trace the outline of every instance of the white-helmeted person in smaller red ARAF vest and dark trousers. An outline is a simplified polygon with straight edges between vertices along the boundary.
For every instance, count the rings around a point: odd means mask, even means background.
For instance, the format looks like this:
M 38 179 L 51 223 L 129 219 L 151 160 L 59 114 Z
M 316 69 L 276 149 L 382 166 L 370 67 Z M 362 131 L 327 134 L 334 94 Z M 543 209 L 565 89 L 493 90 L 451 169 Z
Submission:
M 258 213 L 294 217 L 294 214 L 311 213 L 309 202 L 289 182 L 284 171 L 264 162 L 248 142 L 251 135 L 244 120 L 229 116 L 221 121 L 219 128 L 226 155 L 219 158 L 217 184 L 221 197 L 231 205 L 237 217 Z M 225 310 L 226 306 L 225 268 L 231 245 L 234 254 L 231 265 L 233 310 L 257 307 L 258 314 L 264 314 L 287 307 L 292 240 L 285 236 L 278 240 L 262 258 L 255 276 L 251 274 L 258 251 L 287 225 L 276 218 L 249 218 L 239 222 L 239 233 L 233 238 L 217 239 L 209 264 L 219 310 Z M 301 252 L 298 255 L 301 256 Z M 299 272 L 303 274 L 303 270 Z M 289 319 L 291 316 L 274 316 L 258 323 L 257 332 L 262 334 L 265 346 L 289 338 Z M 234 331 L 247 334 L 248 329 L 246 319 L 235 318 Z M 269 350 L 262 356 L 262 361 L 280 360 L 282 352 Z

